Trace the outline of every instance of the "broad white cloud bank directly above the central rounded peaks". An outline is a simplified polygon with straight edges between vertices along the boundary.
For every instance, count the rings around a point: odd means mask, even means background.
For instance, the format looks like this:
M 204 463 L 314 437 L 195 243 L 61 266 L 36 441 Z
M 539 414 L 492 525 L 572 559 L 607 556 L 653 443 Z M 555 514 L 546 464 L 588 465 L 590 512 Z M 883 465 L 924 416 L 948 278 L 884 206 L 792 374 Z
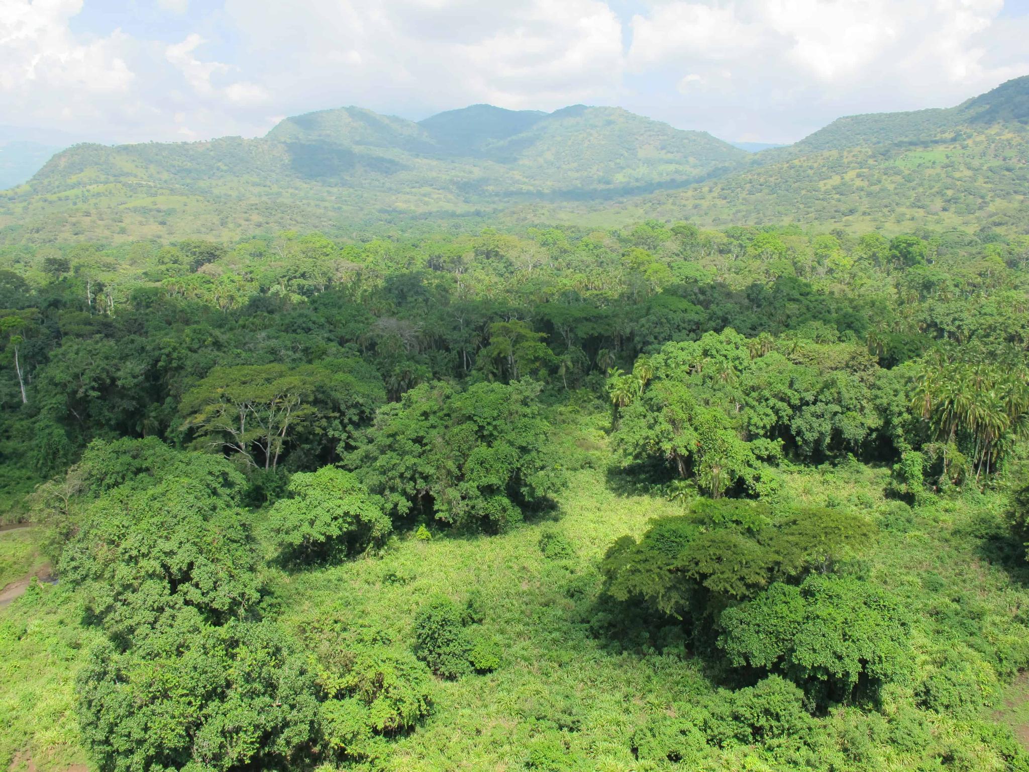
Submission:
M 601 0 L 226 0 L 225 16 L 252 50 L 282 55 L 262 82 L 292 110 L 556 108 L 620 90 L 622 23 Z

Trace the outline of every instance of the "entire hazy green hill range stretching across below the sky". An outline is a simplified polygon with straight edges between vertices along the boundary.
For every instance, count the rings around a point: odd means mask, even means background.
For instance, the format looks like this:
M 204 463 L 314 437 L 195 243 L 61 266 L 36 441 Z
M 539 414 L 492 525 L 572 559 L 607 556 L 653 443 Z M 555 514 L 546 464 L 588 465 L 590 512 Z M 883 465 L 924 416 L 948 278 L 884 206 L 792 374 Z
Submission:
M 1029 77 L 953 108 L 840 118 L 751 153 L 619 108 L 490 105 L 420 122 L 346 107 L 263 138 L 80 144 L 0 199 L 5 242 L 182 238 L 591 212 L 898 227 L 1026 220 Z

